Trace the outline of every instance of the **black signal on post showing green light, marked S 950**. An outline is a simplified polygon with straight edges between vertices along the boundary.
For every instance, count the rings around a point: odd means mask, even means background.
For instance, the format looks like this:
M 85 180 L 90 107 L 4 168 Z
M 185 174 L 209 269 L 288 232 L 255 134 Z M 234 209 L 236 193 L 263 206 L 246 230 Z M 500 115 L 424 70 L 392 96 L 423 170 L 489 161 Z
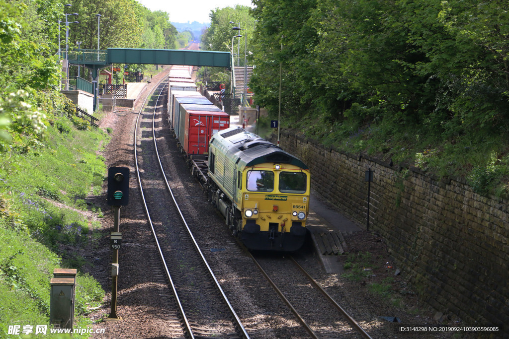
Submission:
M 122 233 L 120 232 L 120 208 L 129 203 L 129 168 L 110 167 L 108 168 L 108 205 L 113 206 L 114 231 L 110 236 L 110 247 L 113 250 L 111 263 L 111 312 L 104 321 L 118 321 L 122 317 L 117 315 L 117 285 L 119 277 L 119 250 L 122 246 Z

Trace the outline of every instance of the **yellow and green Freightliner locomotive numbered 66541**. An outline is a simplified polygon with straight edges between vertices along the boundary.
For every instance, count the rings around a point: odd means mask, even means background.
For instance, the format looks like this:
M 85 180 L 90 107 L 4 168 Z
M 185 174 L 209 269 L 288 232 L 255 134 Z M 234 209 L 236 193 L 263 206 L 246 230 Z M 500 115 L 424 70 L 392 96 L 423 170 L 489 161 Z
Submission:
M 309 168 L 241 128 L 209 144 L 209 199 L 251 250 L 296 251 L 304 243 Z

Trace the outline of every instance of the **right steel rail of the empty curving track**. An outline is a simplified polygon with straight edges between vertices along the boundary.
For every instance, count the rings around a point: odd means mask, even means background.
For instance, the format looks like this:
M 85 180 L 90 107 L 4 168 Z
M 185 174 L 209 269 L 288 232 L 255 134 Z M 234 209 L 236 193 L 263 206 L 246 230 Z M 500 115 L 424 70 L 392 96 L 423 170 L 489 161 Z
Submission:
M 157 100 L 159 100 L 159 98 L 157 98 Z M 157 107 L 157 102 L 156 102 L 156 107 Z M 164 168 L 163 168 L 162 163 L 161 163 L 161 158 L 159 157 L 159 151 L 157 149 L 157 140 L 156 140 L 156 135 L 155 135 L 155 115 L 156 115 L 156 112 L 155 112 L 155 109 L 154 109 L 154 115 L 153 115 L 153 118 L 152 118 L 152 136 L 153 136 L 153 139 L 154 139 L 154 147 L 155 147 L 156 154 L 157 154 L 157 161 L 159 162 L 159 168 L 161 169 L 162 176 L 164 178 L 164 181 L 166 182 L 166 187 L 168 188 L 169 193 L 172 195 L 173 202 L 175 203 L 175 206 L 177 207 L 177 210 L 179 211 L 180 218 L 182 219 L 182 222 L 186 226 L 187 232 L 189 233 L 189 236 L 191 237 L 192 242 L 196 246 L 196 250 L 200 254 L 200 257 L 202 258 L 203 263 L 205 264 L 205 266 L 207 266 L 209 274 L 212 276 L 212 279 L 214 280 L 215 285 L 216 285 L 217 289 L 219 290 L 221 296 L 223 297 L 224 301 L 227 303 L 227 305 L 228 305 L 228 307 L 230 309 L 230 312 L 232 313 L 232 315 L 235 318 L 235 322 L 237 323 L 237 326 L 240 328 L 240 330 L 241 330 L 242 334 L 244 335 L 244 337 L 246 339 L 249 339 L 249 334 L 247 333 L 246 329 L 244 328 L 244 325 L 242 325 L 242 322 L 240 321 L 240 318 L 238 317 L 237 313 L 233 309 L 233 306 L 230 303 L 230 300 L 228 300 L 228 297 L 226 296 L 226 294 L 224 294 L 224 291 L 221 288 L 221 285 L 219 284 L 219 282 L 217 281 L 214 272 L 212 272 L 212 269 L 210 268 L 209 263 L 207 262 L 207 259 L 205 259 L 205 256 L 203 255 L 203 252 L 200 249 L 200 246 L 198 245 L 198 243 L 194 239 L 194 236 L 192 235 L 191 229 L 189 228 L 189 225 L 187 224 L 187 222 L 186 222 L 186 220 L 184 218 L 184 215 L 182 214 L 182 211 L 180 210 L 179 204 L 178 204 L 177 200 L 175 199 L 175 195 L 173 194 L 172 188 L 169 187 L 168 180 L 166 179 L 166 173 L 164 172 Z

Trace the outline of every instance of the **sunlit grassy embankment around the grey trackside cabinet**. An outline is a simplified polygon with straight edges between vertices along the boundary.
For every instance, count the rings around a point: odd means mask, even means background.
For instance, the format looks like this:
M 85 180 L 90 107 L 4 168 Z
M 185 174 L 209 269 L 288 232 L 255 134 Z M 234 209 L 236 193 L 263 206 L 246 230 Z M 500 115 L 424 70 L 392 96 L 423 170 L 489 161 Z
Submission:
M 97 238 L 100 224 L 89 225 L 84 199 L 91 191 L 101 193 L 106 167 L 96 151 L 108 137 L 65 115 L 48 115 L 52 125 L 42 146 L 0 160 L 0 338 L 7 337 L 9 325 L 49 323 L 54 268 L 78 269 L 77 326 L 90 323 L 83 317 L 87 306 L 98 305 L 104 295 L 81 272 L 88 263 L 77 250 L 89 244 L 90 228 Z

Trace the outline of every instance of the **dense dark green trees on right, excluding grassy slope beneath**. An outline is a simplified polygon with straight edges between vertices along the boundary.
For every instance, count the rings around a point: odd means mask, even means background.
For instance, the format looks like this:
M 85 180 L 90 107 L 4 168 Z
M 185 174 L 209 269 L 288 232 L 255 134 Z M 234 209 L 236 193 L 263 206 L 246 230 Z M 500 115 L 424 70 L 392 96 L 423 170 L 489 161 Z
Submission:
M 251 87 L 269 111 L 282 63 L 283 114 L 387 118 L 443 132 L 509 124 L 503 1 L 253 3 Z

